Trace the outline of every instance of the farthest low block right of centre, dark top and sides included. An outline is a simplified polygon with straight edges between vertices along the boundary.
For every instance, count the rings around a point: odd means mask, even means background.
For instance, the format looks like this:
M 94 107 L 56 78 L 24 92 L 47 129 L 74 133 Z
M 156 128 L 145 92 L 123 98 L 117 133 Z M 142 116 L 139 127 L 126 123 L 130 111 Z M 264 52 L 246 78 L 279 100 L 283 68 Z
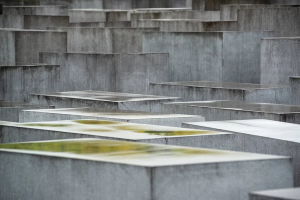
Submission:
M 182 101 L 240 100 L 289 104 L 289 87 L 251 83 L 186 81 L 150 83 L 150 93 L 181 97 Z

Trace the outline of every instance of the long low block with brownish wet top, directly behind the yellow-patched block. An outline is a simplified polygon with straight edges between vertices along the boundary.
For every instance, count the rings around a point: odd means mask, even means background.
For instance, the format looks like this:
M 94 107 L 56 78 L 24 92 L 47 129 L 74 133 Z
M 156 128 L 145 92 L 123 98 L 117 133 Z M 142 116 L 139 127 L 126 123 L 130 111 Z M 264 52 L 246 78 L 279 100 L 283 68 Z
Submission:
M 82 107 L 47 110 L 41 108 L 35 108 L 34 110 L 20 110 L 18 112 L 19 120 L 15 122 L 56 121 L 88 118 L 176 127 L 181 127 L 182 122 L 204 121 L 204 116 L 196 115 L 164 114 L 134 110 Z M 5 119 L 0 118 L 0 120 Z

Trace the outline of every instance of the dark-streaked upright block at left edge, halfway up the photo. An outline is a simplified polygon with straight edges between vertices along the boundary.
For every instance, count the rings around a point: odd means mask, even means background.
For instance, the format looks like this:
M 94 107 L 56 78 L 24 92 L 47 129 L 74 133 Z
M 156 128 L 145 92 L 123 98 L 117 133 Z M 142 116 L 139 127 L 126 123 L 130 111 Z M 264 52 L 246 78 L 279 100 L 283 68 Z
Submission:
M 0 99 L 28 102 L 30 93 L 59 89 L 59 65 L 0 66 Z

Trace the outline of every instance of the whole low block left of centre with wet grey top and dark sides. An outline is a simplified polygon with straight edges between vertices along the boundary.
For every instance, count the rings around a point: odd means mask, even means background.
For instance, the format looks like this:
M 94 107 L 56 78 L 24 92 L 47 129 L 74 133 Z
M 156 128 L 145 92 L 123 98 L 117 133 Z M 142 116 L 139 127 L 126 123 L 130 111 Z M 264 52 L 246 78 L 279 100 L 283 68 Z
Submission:
M 179 100 L 178 97 L 93 90 L 30 94 L 31 103 L 55 105 L 56 108 L 101 107 L 150 112 L 160 112 L 162 102 Z

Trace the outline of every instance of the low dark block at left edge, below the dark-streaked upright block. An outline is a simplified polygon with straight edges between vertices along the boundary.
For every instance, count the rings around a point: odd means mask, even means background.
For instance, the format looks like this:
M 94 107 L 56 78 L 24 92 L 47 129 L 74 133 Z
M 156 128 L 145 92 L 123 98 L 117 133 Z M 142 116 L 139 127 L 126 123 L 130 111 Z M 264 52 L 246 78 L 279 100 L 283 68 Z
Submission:
M 44 106 L 44 105 L 36 105 L 36 104 L 23 103 L 17 101 L 0 100 L 0 120 L 18 122 L 19 110 L 48 109 L 48 108 L 55 108 L 55 106 Z

